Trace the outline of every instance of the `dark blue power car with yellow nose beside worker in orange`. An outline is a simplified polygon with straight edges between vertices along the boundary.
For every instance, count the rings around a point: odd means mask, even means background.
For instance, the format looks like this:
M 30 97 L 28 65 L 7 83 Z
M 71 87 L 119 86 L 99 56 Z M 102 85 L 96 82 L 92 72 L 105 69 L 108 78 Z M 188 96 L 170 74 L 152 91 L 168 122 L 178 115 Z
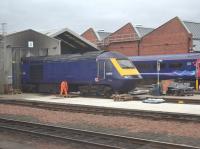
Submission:
M 22 59 L 24 91 L 58 92 L 61 81 L 70 91 L 109 95 L 134 89 L 141 75 L 124 55 L 117 52 L 88 52 Z

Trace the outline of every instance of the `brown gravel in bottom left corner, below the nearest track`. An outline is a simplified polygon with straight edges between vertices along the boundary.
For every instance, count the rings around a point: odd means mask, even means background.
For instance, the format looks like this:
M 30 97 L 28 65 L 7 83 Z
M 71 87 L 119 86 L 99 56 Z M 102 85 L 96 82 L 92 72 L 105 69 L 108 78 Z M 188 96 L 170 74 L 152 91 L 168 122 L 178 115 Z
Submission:
M 24 133 L 0 130 L 1 149 L 76 149 L 75 144 L 66 142 L 55 142 L 37 136 L 30 136 Z

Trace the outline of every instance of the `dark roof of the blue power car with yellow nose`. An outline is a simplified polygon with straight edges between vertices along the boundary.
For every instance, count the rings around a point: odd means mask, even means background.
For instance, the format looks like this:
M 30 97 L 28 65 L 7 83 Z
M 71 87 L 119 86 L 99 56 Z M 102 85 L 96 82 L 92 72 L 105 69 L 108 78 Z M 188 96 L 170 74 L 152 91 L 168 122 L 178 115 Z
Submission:
M 83 54 L 64 54 L 53 56 L 33 56 L 22 58 L 23 62 L 45 62 L 45 61 L 66 61 L 66 60 L 83 60 L 83 59 L 105 59 L 105 58 L 127 58 L 117 52 L 94 51 Z

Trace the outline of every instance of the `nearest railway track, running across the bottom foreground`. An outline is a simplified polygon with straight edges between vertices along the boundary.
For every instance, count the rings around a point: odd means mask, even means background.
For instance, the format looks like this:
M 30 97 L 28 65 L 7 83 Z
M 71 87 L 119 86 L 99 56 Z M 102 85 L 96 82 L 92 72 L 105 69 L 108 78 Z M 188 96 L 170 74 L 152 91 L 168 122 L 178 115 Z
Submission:
M 93 148 L 104 149 L 200 149 L 199 147 L 183 144 L 173 144 L 140 138 L 112 135 L 94 131 L 86 131 L 41 123 L 30 123 L 13 119 L 0 118 L 0 129 L 23 132 L 43 137 L 90 145 Z M 83 147 L 83 146 L 82 146 Z

